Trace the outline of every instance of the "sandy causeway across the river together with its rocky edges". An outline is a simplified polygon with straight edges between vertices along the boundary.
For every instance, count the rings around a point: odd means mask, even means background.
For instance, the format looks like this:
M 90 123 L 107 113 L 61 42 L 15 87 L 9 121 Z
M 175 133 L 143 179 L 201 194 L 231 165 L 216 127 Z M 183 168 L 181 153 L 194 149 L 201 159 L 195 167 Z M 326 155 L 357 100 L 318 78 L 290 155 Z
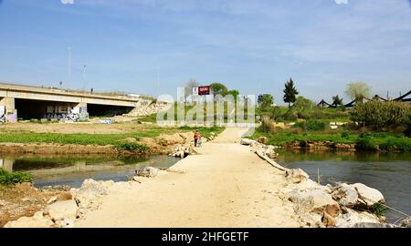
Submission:
M 71 211 L 66 214 L 69 218 L 55 218 L 53 225 L 236 228 L 351 227 L 361 222 L 372 222 L 374 227 L 384 225 L 371 213 L 354 210 L 351 205 L 342 206 L 342 200 L 337 199 L 337 194 L 343 197 L 339 192 L 341 187 L 320 186 L 302 170 L 273 168 L 267 159 L 255 154 L 255 148 L 238 142 L 238 129 L 227 129 L 198 149 L 198 155 L 179 161 L 168 171 L 154 171 L 155 178 L 134 177 L 129 182 L 86 180 L 80 189 L 71 190 L 73 200 L 52 206 L 51 210 L 65 207 Z M 51 210 L 8 226 L 24 226 L 33 220 L 37 225 L 49 226 L 51 217 L 57 216 Z

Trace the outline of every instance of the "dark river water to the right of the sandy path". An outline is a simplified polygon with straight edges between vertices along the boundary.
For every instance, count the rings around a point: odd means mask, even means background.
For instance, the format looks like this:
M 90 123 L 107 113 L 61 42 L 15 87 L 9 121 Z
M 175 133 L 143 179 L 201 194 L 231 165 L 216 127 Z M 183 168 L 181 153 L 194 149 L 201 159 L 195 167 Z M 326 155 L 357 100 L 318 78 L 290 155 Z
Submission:
M 280 151 L 277 162 L 289 169 L 300 168 L 321 184 L 364 183 L 380 190 L 386 204 L 411 214 L 411 154 L 338 153 Z M 395 221 L 404 215 L 389 210 L 386 218 Z

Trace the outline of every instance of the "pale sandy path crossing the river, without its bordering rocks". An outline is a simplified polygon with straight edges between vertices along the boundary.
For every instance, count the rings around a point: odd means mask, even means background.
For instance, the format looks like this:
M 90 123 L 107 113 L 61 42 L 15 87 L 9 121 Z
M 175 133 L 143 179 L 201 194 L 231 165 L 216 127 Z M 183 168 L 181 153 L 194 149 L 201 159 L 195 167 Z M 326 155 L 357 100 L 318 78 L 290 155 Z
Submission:
M 235 144 L 241 129 L 228 128 L 201 155 L 128 190 L 113 190 L 99 210 L 76 227 L 299 227 L 292 204 L 280 198 L 284 173 Z

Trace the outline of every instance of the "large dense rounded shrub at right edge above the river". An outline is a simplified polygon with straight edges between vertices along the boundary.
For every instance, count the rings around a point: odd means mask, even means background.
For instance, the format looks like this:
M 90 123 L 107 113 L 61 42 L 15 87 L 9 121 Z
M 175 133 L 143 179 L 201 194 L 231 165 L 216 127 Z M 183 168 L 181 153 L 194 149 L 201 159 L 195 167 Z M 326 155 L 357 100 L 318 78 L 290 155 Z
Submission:
M 409 105 L 400 102 L 372 100 L 358 103 L 351 111 L 351 120 L 376 129 L 406 124 Z

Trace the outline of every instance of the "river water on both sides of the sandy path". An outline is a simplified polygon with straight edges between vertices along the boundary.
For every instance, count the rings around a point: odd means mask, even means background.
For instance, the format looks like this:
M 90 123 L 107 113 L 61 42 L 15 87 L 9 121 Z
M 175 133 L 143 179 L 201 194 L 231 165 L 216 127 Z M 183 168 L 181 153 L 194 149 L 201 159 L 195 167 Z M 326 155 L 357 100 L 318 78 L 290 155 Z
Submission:
M 180 159 L 153 156 L 142 158 L 85 157 L 0 157 L 0 167 L 9 171 L 27 171 L 37 187 L 69 185 L 79 188 L 84 179 L 124 181 L 135 169 L 168 168 Z M 286 152 L 280 151 L 279 164 L 305 170 L 311 179 L 321 175 L 321 184 L 361 182 L 380 190 L 387 205 L 411 214 L 411 154 Z M 387 213 L 390 221 L 398 218 Z

